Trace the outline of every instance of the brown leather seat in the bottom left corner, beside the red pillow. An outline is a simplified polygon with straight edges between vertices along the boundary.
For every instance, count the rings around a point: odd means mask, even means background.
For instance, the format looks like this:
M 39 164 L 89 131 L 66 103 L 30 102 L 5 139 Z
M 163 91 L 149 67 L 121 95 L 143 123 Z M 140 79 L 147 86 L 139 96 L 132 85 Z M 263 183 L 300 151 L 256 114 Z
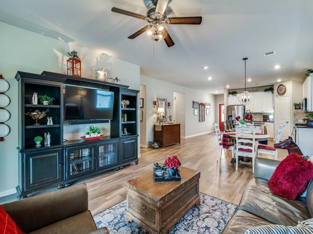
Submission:
M 97 229 L 88 210 L 86 184 L 73 185 L 1 206 L 24 233 L 109 234 L 106 227 Z

